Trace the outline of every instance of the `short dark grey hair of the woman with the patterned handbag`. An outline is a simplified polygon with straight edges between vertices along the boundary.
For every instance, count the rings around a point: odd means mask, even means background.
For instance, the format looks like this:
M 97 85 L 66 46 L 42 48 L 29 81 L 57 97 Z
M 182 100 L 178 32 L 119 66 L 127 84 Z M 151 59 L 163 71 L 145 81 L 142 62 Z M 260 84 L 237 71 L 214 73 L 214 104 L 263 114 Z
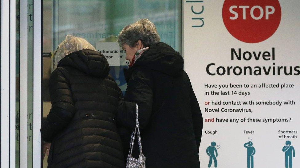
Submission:
M 155 25 L 148 19 L 140 19 L 133 24 L 125 26 L 118 36 L 120 47 L 124 43 L 130 47 L 134 47 L 138 40 L 141 40 L 144 47 L 149 47 L 160 42 L 160 36 L 157 33 Z

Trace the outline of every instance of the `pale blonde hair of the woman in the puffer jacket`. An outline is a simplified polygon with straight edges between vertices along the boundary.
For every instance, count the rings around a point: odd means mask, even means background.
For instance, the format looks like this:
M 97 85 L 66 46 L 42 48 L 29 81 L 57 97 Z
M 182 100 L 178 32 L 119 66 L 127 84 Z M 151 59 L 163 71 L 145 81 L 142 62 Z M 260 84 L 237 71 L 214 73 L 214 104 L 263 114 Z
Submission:
M 73 53 L 75 51 L 90 49 L 95 50 L 95 47 L 92 46 L 88 41 L 83 38 L 75 37 L 73 35 L 67 35 L 65 40 L 62 41 L 57 49 L 54 51 L 54 68 L 57 68 L 58 62 L 64 58 L 66 55 Z

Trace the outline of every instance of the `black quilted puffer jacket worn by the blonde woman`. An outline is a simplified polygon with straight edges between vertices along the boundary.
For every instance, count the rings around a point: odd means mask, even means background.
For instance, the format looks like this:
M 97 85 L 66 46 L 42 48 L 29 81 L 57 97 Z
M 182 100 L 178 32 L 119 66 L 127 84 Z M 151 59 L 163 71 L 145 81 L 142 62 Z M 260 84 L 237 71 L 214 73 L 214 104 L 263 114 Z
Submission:
M 121 91 L 102 54 L 80 50 L 58 63 L 49 81 L 52 108 L 42 125 L 48 167 L 124 167 L 115 118 Z

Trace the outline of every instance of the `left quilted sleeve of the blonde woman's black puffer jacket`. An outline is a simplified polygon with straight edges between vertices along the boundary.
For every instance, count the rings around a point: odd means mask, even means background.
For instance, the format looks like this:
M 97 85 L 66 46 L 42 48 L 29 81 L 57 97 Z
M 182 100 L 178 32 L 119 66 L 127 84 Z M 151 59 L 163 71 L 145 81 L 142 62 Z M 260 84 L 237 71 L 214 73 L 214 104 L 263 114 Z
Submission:
M 73 118 L 75 107 L 68 72 L 59 67 L 53 71 L 49 80 L 51 110 L 47 120 L 41 126 L 41 136 L 44 141 L 51 142 Z

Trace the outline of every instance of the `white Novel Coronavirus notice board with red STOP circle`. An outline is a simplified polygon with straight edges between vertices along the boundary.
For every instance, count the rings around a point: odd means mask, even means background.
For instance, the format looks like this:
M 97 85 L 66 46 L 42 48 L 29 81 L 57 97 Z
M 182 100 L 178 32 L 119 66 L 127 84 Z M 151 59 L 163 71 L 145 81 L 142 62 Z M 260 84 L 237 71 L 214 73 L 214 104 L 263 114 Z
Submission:
M 183 2 L 201 167 L 300 167 L 299 9 L 286 0 Z

